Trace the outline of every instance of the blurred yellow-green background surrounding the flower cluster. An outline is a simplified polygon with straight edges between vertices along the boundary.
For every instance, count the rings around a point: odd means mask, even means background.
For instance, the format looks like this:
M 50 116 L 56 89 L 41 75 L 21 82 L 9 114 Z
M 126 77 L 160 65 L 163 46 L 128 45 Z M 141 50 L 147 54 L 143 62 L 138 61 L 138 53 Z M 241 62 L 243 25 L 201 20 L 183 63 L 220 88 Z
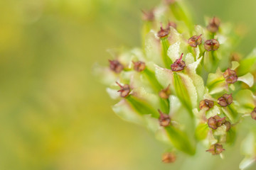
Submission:
M 195 21 L 218 16 L 247 31 L 238 52 L 256 47 L 256 1 L 186 1 Z M 238 143 L 220 159 L 178 154 L 148 130 L 124 122 L 92 74 L 112 47 L 139 47 L 141 9 L 157 0 L 0 1 L 0 169 L 238 169 Z M 256 169 L 252 166 L 250 169 Z

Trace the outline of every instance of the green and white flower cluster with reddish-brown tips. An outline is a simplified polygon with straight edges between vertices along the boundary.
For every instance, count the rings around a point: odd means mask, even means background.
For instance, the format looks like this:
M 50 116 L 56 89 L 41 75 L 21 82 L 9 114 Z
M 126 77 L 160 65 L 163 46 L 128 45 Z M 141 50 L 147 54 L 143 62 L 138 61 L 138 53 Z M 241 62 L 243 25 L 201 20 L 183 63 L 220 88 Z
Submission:
M 119 101 L 113 111 L 169 144 L 163 162 L 174 162 L 176 151 L 195 154 L 198 143 L 221 156 L 237 125 L 256 120 L 256 51 L 237 57 L 240 35 L 232 26 L 217 17 L 194 25 L 178 1 L 166 0 L 142 18 L 142 48 L 112 50 L 110 66 L 97 70 Z M 248 138 L 255 146 L 256 135 Z M 241 169 L 256 153 L 245 155 Z

